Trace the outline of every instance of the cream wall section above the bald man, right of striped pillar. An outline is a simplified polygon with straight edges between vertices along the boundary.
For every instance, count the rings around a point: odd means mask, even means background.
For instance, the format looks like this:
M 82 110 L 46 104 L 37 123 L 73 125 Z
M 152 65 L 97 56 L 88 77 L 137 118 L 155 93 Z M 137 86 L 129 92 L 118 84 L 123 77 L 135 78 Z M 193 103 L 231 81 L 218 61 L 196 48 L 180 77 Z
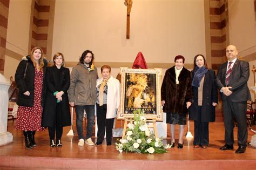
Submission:
M 230 44 L 237 46 L 239 56 L 256 52 L 254 0 L 228 1 Z

